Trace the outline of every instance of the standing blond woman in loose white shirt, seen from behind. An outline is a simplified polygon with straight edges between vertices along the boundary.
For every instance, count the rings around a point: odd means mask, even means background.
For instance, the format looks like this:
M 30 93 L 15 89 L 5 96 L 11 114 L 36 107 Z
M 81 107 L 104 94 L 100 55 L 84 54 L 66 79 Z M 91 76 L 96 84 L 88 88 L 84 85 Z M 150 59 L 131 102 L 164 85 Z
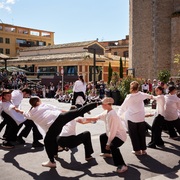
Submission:
M 130 84 L 130 93 L 126 96 L 120 106 L 118 115 L 121 117 L 125 113 L 125 121 L 128 123 L 129 136 L 131 138 L 133 152 L 136 155 L 146 153 L 146 123 L 144 100 L 151 99 L 151 95 L 139 91 L 139 83 L 133 81 Z

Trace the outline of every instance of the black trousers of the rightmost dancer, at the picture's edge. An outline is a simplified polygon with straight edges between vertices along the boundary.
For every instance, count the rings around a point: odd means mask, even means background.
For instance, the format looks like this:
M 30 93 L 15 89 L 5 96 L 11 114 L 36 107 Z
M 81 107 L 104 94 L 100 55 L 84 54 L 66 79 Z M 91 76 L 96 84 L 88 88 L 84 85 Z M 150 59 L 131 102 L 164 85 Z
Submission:
M 180 119 L 179 118 L 174 120 L 174 121 L 167 121 L 166 120 L 166 124 L 167 124 L 167 128 L 168 128 L 170 137 L 172 137 L 172 138 L 177 137 L 176 130 L 180 135 Z

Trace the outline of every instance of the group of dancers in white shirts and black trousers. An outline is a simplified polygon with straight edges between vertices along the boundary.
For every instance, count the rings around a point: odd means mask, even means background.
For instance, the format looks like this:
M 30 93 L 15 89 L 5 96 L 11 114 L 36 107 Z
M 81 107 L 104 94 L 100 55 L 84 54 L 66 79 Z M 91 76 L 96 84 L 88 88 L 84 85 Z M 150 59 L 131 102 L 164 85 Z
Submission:
M 138 82 L 133 81 L 130 84 L 130 94 L 127 95 L 116 113 L 112 107 L 114 100 L 111 97 L 105 97 L 101 101 L 86 104 L 85 86 L 83 77 L 79 76 L 79 80 L 75 82 L 74 98 L 69 111 L 45 104 L 39 97 L 32 96 L 29 99 L 31 109 L 28 112 L 24 112 L 13 103 L 11 91 L 4 91 L 2 93 L 2 109 L 4 113 L 2 114 L 5 114 L 5 116 L 2 115 L 2 117 L 4 120 L 6 119 L 7 125 L 13 130 L 8 130 L 6 140 L 2 145 L 8 145 L 7 143 L 12 141 L 10 138 L 12 137 L 12 132 L 14 131 L 13 133 L 16 137 L 18 127 L 28 119 L 28 121 L 32 122 L 33 125 L 31 126 L 34 129 L 37 126 L 38 129 L 36 130 L 45 135 L 44 146 L 49 160 L 43 162 L 42 166 L 55 168 L 55 157 L 57 156 L 58 148 L 73 148 L 79 144 L 84 144 L 85 160 L 90 161 L 94 152 L 91 134 L 89 131 L 85 131 L 76 135 L 76 122 L 86 124 L 102 120 L 105 123 L 106 131 L 100 135 L 101 156 L 112 157 L 114 165 L 117 167 L 117 172 L 123 173 L 128 169 L 119 149 L 127 138 L 126 130 L 123 126 L 124 121 L 127 124 L 132 142 L 132 152 L 135 155 L 147 154 L 145 116 L 148 115 L 145 114 L 144 110 L 145 99 L 156 99 L 157 101 L 157 111 L 152 125 L 152 139 L 148 146 L 155 148 L 156 146 L 164 145 L 161 138 L 164 124 L 168 127 L 170 138 L 177 138 L 177 132 L 180 134 L 178 114 L 178 111 L 180 111 L 180 99 L 176 96 L 175 87 L 169 87 L 169 94 L 164 96 L 162 88 L 158 86 L 155 89 L 157 96 L 152 96 L 140 92 Z M 102 105 L 103 113 L 91 118 L 84 117 L 85 113 L 98 105 Z M 36 139 L 36 143 L 38 140 L 40 140 L 40 137 Z

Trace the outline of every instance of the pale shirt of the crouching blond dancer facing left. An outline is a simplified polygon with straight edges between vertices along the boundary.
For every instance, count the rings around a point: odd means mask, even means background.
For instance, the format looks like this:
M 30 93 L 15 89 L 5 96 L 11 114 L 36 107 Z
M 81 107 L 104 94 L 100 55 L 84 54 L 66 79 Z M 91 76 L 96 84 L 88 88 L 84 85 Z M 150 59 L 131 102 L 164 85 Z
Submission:
M 126 131 L 115 110 L 105 111 L 98 115 L 97 118 L 105 122 L 106 135 L 108 137 L 107 145 L 110 145 L 115 137 L 126 141 Z

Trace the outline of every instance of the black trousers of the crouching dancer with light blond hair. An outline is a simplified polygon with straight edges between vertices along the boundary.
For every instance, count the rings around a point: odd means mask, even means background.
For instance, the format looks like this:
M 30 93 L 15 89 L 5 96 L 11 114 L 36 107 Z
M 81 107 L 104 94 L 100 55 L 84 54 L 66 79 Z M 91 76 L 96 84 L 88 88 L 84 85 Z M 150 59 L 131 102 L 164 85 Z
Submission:
M 113 161 L 115 166 L 120 166 L 120 165 L 126 165 L 124 162 L 124 159 L 121 155 L 121 152 L 119 150 L 119 147 L 123 145 L 123 141 L 119 139 L 118 137 L 115 137 L 111 144 L 110 144 L 110 151 L 106 150 L 106 144 L 108 141 L 108 137 L 106 133 L 100 135 L 100 143 L 101 143 L 101 152 L 102 153 L 112 153 Z

